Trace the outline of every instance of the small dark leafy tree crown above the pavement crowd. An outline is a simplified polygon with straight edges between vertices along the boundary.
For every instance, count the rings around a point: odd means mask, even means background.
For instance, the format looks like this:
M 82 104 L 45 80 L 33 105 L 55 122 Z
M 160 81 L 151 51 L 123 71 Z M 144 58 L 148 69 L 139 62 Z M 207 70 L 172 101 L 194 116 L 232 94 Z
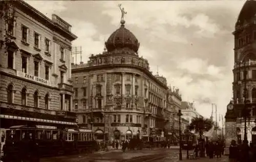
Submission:
M 209 131 L 213 126 L 214 122 L 212 120 L 201 117 L 192 119 L 190 125 L 188 125 L 188 129 L 190 131 L 194 130 L 202 137 L 203 133 Z

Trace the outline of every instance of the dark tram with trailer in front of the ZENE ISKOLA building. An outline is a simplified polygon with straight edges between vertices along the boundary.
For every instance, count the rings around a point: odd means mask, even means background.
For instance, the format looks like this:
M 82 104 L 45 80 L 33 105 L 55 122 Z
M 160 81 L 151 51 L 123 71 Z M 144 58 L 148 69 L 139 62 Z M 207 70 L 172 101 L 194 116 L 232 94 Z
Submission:
M 92 152 L 95 133 L 90 129 L 57 129 L 55 126 L 12 126 L 6 130 L 3 161 L 36 162 L 40 157 Z

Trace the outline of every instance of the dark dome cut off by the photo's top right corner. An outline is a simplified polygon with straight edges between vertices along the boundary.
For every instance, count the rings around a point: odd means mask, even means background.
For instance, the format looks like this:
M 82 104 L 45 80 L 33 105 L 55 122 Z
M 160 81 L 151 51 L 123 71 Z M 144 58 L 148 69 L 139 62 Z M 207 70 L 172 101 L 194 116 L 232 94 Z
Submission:
M 244 21 L 249 21 L 253 16 L 256 16 L 256 1 L 246 1 L 240 14 L 237 23 L 243 24 Z

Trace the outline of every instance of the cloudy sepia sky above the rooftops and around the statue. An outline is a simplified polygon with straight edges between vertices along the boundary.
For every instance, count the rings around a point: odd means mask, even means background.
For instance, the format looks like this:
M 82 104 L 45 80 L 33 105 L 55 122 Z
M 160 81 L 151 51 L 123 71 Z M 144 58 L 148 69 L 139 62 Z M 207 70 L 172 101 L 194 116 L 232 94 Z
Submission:
M 102 53 L 104 41 L 119 28 L 122 4 L 125 28 L 139 40 L 138 54 L 153 74 L 158 67 L 168 85 L 180 89 L 183 101 L 194 101 L 204 117 L 210 117 L 211 103 L 217 105 L 218 118 L 224 117 L 232 98 L 232 32 L 244 0 L 26 2 L 72 25 L 78 36 L 72 46 L 81 46 L 83 62 Z

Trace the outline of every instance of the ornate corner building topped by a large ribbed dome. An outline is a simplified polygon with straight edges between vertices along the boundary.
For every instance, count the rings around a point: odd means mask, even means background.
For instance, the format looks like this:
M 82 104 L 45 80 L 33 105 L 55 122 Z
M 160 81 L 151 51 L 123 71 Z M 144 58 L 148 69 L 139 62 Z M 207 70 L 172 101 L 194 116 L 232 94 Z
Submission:
M 92 128 L 98 140 L 149 135 L 157 140 L 170 118 L 166 79 L 154 76 L 148 61 L 138 56 L 140 44 L 124 23 L 105 42 L 102 54 L 72 66 L 78 125 Z

